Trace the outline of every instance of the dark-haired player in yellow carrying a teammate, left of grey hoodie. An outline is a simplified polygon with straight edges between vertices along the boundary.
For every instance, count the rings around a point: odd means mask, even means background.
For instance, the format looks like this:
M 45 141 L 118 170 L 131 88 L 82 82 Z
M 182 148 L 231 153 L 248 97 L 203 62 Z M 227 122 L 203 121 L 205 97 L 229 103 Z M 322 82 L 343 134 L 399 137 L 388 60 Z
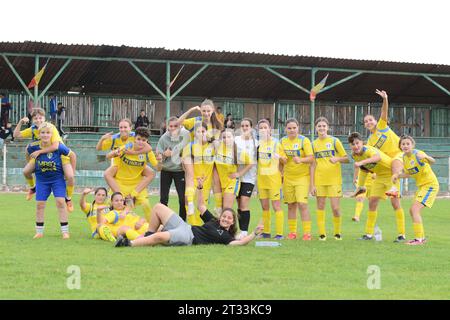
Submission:
M 136 200 L 137 205 L 143 206 L 147 220 L 150 219 L 151 213 L 147 186 L 155 177 L 155 173 L 147 164 L 151 164 L 158 171 L 162 168 L 151 147 L 149 152 L 141 153 L 150 146 L 148 144 L 149 136 L 147 128 L 137 128 L 133 143 L 128 143 L 108 153 L 106 156 L 108 159 L 115 159 L 107 170 L 109 172 L 105 172 L 104 175 L 113 192 L 121 192 L 125 196 L 131 196 Z M 143 175 L 144 171 L 149 172 L 149 174 Z

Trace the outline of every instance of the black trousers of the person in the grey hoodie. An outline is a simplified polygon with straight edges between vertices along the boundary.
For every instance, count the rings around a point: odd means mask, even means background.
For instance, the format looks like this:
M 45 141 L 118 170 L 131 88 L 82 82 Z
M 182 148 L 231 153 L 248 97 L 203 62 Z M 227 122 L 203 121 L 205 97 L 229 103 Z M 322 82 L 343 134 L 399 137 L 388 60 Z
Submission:
M 186 207 L 185 207 L 185 200 L 184 200 L 184 193 L 186 190 L 186 185 L 184 181 L 184 171 L 179 172 L 171 172 L 171 171 L 161 171 L 161 179 L 160 179 L 160 186 L 161 186 L 161 197 L 160 202 L 167 206 L 169 203 L 169 191 L 170 186 L 172 185 L 172 180 L 175 181 L 175 188 L 177 189 L 178 193 L 178 203 L 180 205 L 180 217 L 184 221 L 186 221 Z

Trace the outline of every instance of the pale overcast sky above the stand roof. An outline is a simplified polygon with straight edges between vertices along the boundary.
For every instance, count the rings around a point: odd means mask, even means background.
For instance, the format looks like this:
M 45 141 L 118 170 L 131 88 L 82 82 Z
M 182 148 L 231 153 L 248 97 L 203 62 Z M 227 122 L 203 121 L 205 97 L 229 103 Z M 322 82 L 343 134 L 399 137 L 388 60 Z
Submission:
M 15 0 L 1 8 L 1 41 L 450 65 L 446 0 Z

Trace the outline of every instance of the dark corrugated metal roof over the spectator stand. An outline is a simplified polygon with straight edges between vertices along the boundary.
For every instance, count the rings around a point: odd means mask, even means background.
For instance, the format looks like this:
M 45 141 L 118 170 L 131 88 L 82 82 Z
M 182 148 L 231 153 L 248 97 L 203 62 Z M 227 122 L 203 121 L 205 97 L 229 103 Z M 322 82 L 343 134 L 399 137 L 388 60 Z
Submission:
M 450 74 L 450 66 L 389 61 L 336 59 L 328 57 L 289 56 L 247 52 L 203 51 L 190 49 L 138 48 L 109 45 L 54 44 L 43 42 L 0 42 L 0 52 L 32 53 L 86 57 L 120 57 L 132 59 L 184 60 L 219 63 L 305 66 L 345 68 L 378 71 Z M 11 57 L 24 81 L 34 75 L 34 59 Z M 41 64 L 45 59 L 41 59 Z M 52 59 L 41 80 L 45 86 L 57 73 L 64 61 Z M 158 63 L 136 63 L 164 92 L 166 67 Z M 171 65 L 172 77 L 180 64 Z M 187 81 L 199 65 L 186 65 L 172 92 Z M 0 88 L 22 90 L 19 82 L 3 59 L 0 59 Z M 310 71 L 283 70 L 285 76 L 305 88 L 310 88 Z M 319 81 L 325 72 L 318 72 Z M 340 80 L 348 73 L 331 72 L 328 84 Z M 450 78 L 435 78 L 445 88 L 450 88 Z M 74 86 L 84 86 L 86 93 L 156 95 L 157 92 L 126 62 L 74 60 L 53 84 L 52 91 L 68 91 Z M 363 74 L 319 95 L 318 99 L 333 101 L 373 101 L 375 88 L 389 92 L 392 102 L 450 104 L 450 96 L 420 76 Z M 198 97 L 254 98 L 268 100 L 305 100 L 307 95 L 289 83 L 260 68 L 209 66 L 189 84 L 180 95 Z

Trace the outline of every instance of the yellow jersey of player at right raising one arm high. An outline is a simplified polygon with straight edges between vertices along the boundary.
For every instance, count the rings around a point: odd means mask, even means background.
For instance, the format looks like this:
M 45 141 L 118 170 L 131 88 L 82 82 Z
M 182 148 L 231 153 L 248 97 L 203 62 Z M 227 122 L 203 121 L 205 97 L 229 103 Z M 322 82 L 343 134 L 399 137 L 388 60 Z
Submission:
M 377 123 L 375 133 L 372 133 L 369 136 L 367 145 L 375 147 L 393 158 L 401 152 L 398 146 L 399 141 L 400 138 L 391 128 L 389 128 L 387 122 L 380 119 Z

